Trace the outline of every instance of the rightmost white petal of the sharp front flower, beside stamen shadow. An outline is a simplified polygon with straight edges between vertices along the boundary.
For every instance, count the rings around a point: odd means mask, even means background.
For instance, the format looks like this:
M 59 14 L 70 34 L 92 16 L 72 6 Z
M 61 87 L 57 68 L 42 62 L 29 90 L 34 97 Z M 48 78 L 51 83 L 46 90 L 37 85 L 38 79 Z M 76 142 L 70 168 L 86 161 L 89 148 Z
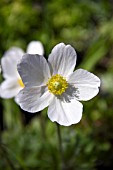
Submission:
M 90 100 L 99 92 L 100 79 L 83 69 L 78 69 L 70 75 L 68 82 L 76 88 L 76 97 L 78 100 Z

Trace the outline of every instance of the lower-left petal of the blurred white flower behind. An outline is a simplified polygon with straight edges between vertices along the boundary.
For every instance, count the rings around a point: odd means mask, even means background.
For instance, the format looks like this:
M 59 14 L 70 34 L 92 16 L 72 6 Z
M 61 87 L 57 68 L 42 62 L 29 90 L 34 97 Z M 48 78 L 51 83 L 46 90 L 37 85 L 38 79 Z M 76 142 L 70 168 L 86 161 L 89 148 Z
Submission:
M 21 89 L 17 80 L 7 79 L 1 84 L 1 97 L 5 99 L 15 97 Z

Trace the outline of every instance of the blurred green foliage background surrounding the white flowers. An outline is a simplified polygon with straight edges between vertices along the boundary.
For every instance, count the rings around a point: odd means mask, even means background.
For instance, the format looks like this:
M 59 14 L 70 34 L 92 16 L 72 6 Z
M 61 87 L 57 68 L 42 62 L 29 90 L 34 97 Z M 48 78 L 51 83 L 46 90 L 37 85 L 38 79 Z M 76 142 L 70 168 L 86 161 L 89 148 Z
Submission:
M 113 1 L 0 0 L 0 57 L 32 40 L 45 57 L 59 42 L 77 51 L 77 68 L 100 77 L 99 95 L 84 104 L 80 123 L 61 127 L 64 170 L 113 169 Z M 2 82 L 2 76 L 0 78 Z M 56 123 L 47 109 L 31 114 L 0 98 L 0 170 L 60 170 Z

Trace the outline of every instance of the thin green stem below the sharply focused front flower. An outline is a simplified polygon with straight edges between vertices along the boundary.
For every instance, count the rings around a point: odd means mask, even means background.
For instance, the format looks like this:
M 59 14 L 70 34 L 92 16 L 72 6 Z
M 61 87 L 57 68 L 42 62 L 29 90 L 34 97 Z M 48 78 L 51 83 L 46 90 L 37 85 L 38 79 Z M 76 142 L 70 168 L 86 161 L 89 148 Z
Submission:
M 64 168 L 64 155 L 63 155 L 63 148 L 62 148 L 62 137 L 61 137 L 61 130 L 60 125 L 56 123 L 57 125 L 57 134 L 58 134 L 58 144 L 59 144 L 59 152 L 61 157 L 61 170 L 65 170 Z

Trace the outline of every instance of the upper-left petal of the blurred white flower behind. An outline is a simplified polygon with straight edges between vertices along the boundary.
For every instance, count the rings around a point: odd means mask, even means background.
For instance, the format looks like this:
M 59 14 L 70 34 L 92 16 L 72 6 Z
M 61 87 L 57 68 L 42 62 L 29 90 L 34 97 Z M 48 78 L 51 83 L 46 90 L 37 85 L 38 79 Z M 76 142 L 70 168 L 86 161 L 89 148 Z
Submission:
M 17 64 L 24 52 L 17 47 L 10 48 L 2 57 L 1 65 L 4 78 L 18 77 Z

